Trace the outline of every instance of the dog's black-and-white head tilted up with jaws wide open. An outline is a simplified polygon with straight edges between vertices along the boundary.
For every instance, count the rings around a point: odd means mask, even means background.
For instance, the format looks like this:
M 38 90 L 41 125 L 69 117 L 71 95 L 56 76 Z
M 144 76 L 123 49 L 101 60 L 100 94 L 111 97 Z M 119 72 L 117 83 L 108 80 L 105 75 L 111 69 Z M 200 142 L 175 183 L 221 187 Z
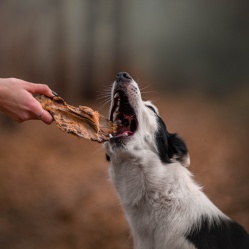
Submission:
M 104 144 L 107 160 L 119 153 L 148 150 L 163 163 L 189 164 L 183 140 L 167 131 L 158 109 L 150 101 L 142 100 L 137 83 L 128 73 L 118 73 L 113 83 L 110 120 L 118 124 L 118 129 Z

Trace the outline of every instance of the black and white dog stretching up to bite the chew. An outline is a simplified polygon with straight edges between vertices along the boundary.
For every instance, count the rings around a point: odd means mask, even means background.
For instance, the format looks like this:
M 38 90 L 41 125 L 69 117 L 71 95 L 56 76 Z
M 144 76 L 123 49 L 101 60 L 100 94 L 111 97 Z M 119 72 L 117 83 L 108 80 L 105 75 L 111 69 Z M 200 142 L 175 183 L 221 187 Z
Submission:
M 246 231 L 193 181 L 184 141 L 167 131 L 127 73 L 113 84 L 110 119 L 119 128 L 104 148 L 134 248 L 249 249 Z

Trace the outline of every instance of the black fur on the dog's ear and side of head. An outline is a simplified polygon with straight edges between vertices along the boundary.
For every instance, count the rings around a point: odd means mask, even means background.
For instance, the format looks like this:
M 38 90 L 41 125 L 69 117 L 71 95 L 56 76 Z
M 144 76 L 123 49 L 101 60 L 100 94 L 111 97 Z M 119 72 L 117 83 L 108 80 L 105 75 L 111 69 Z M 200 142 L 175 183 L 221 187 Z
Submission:
M 182 161 L 188 150 L 184 141 L 175 133 L 169 133 L 163 120 L 157 115 L 158 130 L 156 146 L 162 162 L 170 163 L 171 158 Z

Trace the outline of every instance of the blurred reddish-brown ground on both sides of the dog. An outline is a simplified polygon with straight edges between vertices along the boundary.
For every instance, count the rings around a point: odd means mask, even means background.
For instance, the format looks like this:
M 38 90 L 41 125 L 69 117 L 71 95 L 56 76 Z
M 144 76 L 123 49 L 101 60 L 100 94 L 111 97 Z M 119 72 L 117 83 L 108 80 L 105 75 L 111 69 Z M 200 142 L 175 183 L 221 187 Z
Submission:
M 239 96 L 164 95 L 155 104 L 186 141 L 204 192 L 249 231 L 248 102 Z M 0 128 L 1 249 L 132 248 L 100 144 L 39 121 Z

